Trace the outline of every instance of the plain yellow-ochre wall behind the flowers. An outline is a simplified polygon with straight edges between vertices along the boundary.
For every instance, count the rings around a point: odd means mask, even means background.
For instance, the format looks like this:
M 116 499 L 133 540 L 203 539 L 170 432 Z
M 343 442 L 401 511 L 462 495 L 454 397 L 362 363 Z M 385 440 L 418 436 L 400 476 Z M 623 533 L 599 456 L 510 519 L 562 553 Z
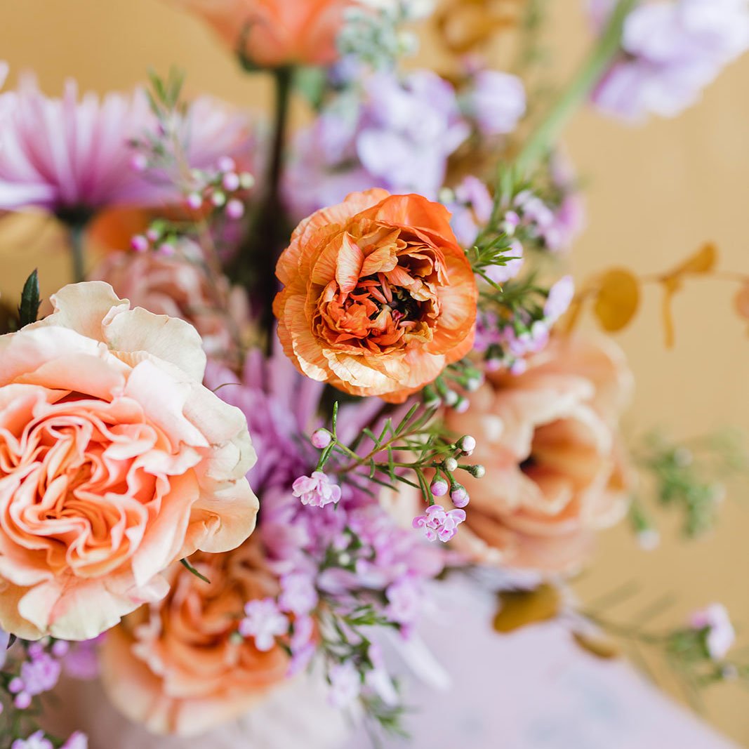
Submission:
M 551 7 L 557 70 L 571 70 L 589 38 L 583 3 L 553 0 Z M 11 66 L 10 85 L 30 68 L 49 94 L 58 94 L 69 76 L 82 89 L 127 89 L 149 66 L 166 72 L 171 64 L 187 70 L 191 93 L 257 109 L 267 107 L 270 94 L 267 80 L 244 76 L 206 28 L 160 0 L 2 0 L 3 59 Z M 577 115 L 565 142 L 589 188 L 589 227 L 574 250 L 575 276 L 615 264 L 664 270 L 705 240 L 717 244 L 724 269 L 749 272 L 748 130 L 749 56 L 676 120 L 633 129 L 591 110 Z M 36 265 L 43 292 L 54 291 L 67 273 L 64 238 L 54 225 L 30 229 L 6 221 L 0 228 L 1 294 L 15 299 Z M 730 282 L 689 283 L 675 304 L 676 348 L 666 351 L 660 295 L 646 291 L 637 321 L 618 336 L 637 377 L 632 431 L 666 425 L 676 437 L 689 437 L 724 425 L 749 430 L 749 324 L 733 314 L 735 293 Z M 720 527 L 700 542 L 681 542 L 673 523 L 664 525 L 661 548 L 651 553 L 637 550 L 626 527 L 605 533 L 580 595 L 592 598 L 637 581 L 640 593 L 615 612 L 627 619 L 673 592 L 675 604 L 657 620 L 664 625 L 724 601 L 739 625 L 740 646 L 749 645 L 746 492 L 747 482 L 731 488 Z M 716 688 L 705 703 L 709 721 L 749 745 L 744 688 Z

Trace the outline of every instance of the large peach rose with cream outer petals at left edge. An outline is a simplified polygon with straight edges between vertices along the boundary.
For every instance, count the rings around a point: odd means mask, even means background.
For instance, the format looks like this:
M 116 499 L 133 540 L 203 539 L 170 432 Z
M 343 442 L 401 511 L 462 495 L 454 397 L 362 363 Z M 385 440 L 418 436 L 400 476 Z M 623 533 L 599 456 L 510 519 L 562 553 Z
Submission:
M 51 301 L 0 337 L 0 628 L 85 640 L 252 533 L 255 452 L 191 325 L 103 282 Z

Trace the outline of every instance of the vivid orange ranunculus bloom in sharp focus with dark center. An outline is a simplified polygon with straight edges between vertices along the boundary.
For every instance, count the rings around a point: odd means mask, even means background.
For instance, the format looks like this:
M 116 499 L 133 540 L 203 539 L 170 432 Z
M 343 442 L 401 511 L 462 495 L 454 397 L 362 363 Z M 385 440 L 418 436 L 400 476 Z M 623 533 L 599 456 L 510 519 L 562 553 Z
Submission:
M 421 195 L 372 189 L 318 210 L 276 275 L 286 355 L 353 395 L 401 403 L 473 346 L 473 271 L 446 208 Z

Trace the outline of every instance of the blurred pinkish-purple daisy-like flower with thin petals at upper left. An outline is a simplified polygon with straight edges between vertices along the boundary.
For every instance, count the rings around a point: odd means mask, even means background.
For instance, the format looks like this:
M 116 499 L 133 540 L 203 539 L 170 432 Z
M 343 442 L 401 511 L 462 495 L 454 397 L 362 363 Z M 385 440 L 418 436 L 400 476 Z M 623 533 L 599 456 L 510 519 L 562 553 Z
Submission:
M 41 207 L 82 223 L 104 206 L 174 201 L 169 175 L 144 172 L 130 146 L 157 127 L 142 89 L 79 97 L 70 80 L 61 98 L 46 97 L 34 76 L 22 76 L 0 94 L 0 210 Z M 249 119 L 230 106 L 199 97 L 179 132 L 192 167 L 212 168 L 220 157 L 256 166 Z

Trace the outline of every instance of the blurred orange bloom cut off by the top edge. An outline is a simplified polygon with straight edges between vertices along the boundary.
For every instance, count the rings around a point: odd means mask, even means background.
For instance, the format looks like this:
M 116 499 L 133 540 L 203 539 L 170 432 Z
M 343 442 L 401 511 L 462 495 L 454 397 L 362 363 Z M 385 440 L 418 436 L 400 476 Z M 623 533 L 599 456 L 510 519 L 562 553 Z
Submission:
M 353 0 L 172 0 L 201 16 L 260 67 L 336 61 L 336 36 Z

